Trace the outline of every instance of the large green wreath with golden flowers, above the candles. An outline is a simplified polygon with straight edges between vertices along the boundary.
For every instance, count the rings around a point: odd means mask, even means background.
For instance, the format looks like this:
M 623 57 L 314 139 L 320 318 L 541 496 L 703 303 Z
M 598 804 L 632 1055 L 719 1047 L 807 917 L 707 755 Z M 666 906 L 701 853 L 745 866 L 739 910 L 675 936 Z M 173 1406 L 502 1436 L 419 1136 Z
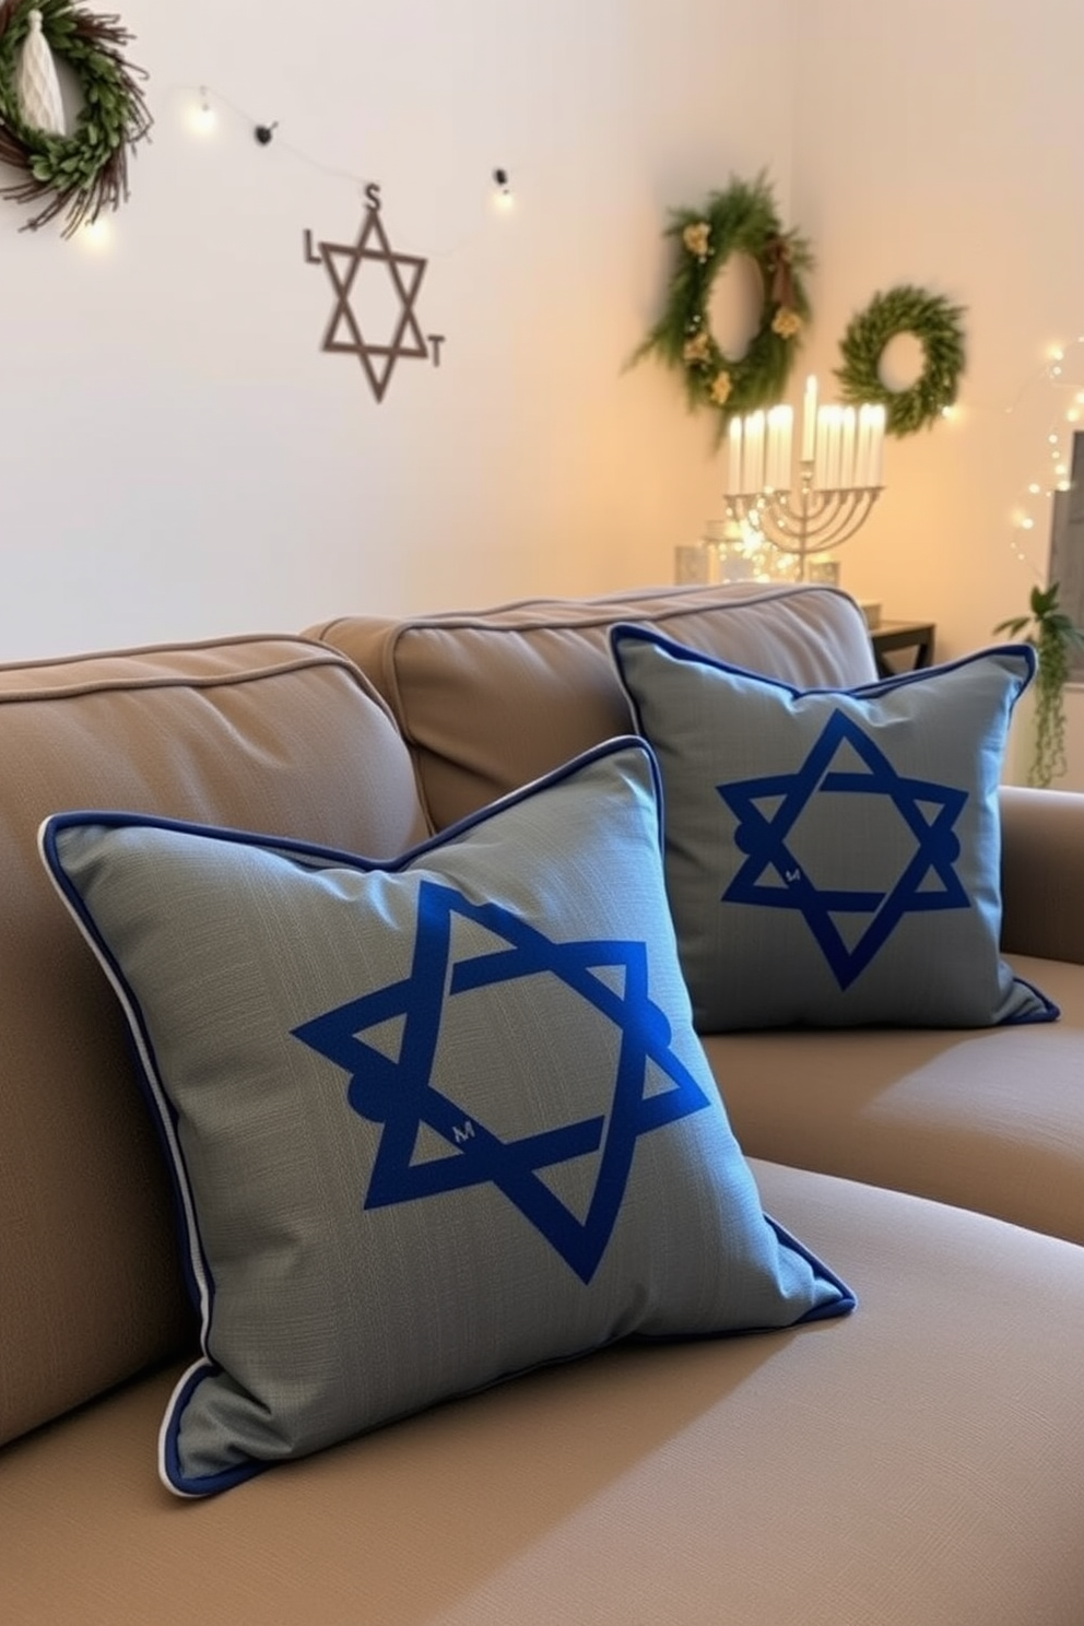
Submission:
M 689 408 L 717 413 L 722 437 L 731 416 L 770 406 L 787 389 L 811 317 L 801 273 L 813 268 L 813 252 L 804 237 L 783 231 L 764 176 L 731 180 L 704 208 L 671 210 L 665 236 L 678 250 L 666 309 L 632 363 L 655 354 L 679 371 Z M 731 254 L 756 260 L 764 285 L 761 324 L 739 361 L 723 354 L 707 314 L 712 285 Z

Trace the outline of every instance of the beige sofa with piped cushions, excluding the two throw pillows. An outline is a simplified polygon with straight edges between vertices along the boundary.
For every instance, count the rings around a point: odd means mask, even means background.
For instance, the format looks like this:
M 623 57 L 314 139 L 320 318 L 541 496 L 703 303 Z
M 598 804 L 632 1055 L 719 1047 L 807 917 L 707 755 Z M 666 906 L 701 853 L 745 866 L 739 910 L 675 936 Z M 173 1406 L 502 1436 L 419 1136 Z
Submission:
M 1050 1026 L 707 1036 L 765 1211 L 855 1289 L 788 1332 L 619 1345 L 172 1498 L 193 1343 L 117 1002 L 36 852 L 127 808 L 392 857 L 627 732 L 640 621 L 868 681 L 826 589 L 346 618 L 0 668 L 0 1618 L 1079 1626 L 1084 800 L 1003 792 L 1003 946 Z

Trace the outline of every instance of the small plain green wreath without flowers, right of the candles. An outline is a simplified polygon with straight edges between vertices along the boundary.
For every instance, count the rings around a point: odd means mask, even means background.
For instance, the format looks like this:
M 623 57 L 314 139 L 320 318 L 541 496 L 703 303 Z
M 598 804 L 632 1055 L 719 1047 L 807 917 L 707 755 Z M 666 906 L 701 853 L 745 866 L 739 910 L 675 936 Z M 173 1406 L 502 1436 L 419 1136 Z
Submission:
M 956 400 L 964 371 L 962 315 L 962 306 L 907 283 L 874 294 L 866 309 L 852 317 L 840 340 L 843 366 L 835 369 L 835 377 L 843 400 L 879 402 L 889 434 L 915 434 L 923 424 L 933 424 Z M 925 363 L 910 389 L 889 390 L 881 379 L 881 356 L 899 333 L 913 333 Z

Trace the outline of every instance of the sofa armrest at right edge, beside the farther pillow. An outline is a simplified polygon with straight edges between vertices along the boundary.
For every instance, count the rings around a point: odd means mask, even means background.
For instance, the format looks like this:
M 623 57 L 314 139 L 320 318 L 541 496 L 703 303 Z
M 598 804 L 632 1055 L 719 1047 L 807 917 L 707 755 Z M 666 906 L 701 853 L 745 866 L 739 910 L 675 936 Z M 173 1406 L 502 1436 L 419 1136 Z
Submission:
M 1084 964 L 1084 795 L 1003 785 L 1001 946 Z

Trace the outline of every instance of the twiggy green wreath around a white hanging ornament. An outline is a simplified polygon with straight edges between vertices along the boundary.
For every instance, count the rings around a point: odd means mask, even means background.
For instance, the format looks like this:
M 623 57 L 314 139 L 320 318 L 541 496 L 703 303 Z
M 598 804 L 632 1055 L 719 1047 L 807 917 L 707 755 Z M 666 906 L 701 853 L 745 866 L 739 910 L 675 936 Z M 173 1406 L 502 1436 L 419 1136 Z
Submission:
M 31 128 L 16 94 L 20 47 L 41 13 L 52 54 L 72 68 L 83 107 L 72 135 Z M 0 187 L 16 203 L 49 198 L 23 231 L 37 231 L 67 213 L 63 236 L 98 220 L 102 208 L 119 208 L 128 197 L 128 148 L 151 128 L 138 78 L 122 50 L 130 34 L 115 16 L 93 16 L 72 0 L 7 0 L 0 5 L 0 161 L 23 179 Z

